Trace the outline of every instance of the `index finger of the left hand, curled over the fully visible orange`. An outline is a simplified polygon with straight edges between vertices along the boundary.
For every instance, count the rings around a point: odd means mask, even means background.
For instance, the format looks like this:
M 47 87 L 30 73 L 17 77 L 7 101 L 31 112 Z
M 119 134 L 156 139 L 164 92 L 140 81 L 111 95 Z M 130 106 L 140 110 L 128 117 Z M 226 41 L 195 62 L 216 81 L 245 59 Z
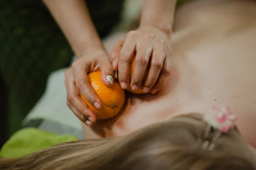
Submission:
M 78 66 L 76 67 L 76 70 L 73 73 L 75 75 L 76 88 L 78 89 L 78 91 L 81 92 L 84 98 L 87 99 L 87 101 L 91 105 L 93 105 L 97 109 L 100 109 L 101 102 L 98 96 L 96 95 L 95 91 L 93 90 L 92 86 L 90 85 L 90 80 L 87 76 L 87 71 L 84 70 L 87 70 L 87 68 L 82 69 Z M 74 106 L 76 107 L 76 105 Z

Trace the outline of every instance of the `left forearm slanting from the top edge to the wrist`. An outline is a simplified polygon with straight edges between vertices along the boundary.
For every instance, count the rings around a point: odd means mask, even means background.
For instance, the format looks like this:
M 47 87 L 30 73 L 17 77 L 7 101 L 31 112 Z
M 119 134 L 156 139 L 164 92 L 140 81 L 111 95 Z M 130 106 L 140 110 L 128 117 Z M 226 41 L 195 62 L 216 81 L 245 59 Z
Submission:
M 84 0 L 43 0 L 75 54 L 103 48 Z

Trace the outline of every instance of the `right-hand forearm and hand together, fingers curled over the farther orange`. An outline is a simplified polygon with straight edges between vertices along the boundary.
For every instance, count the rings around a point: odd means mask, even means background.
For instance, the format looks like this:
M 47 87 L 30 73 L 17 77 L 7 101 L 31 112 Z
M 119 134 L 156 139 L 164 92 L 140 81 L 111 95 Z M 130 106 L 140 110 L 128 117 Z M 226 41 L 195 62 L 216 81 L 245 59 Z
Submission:
M 118 70 L 123 89 L 130 86 L 134 91 L 142 88 L 144 93 L 154 94 L 169 78 L 172 67 L 170 38 L 176 1 L 144 0 L 139 28 L 128 32 L 113 47 L 110 55 L 113 69 Z M 134 71 L 130 79 L 131 61 L 135 53 Z M 143 82 L 144 75 L 146 78 Z

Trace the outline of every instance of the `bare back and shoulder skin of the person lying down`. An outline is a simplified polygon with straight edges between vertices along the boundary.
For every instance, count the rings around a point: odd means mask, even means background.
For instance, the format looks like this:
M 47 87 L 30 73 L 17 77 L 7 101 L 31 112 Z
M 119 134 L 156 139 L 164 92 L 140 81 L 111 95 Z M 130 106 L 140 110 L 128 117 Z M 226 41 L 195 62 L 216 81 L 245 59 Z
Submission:
M 184 113 L 225 105 L 256 147 L 256 3 L 197 0 L 177 10 L 172 74 L 156 94 L 127 94 L 113 119 L 83 126 L 86 139 L 120 136 Z M 112 43 L 109 40 L 109 43 Z M 108 42 L 107 42 L 108 43 Z

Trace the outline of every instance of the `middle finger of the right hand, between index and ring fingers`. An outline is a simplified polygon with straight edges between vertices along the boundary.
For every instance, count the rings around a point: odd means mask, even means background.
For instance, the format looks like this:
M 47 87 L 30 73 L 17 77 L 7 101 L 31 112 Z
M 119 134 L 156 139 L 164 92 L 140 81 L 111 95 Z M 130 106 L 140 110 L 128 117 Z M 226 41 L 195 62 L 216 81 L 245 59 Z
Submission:
M 134 71 L 131 77 L 131 89 L 134 91 L 137 91 L 141 87 L 144 75 L 146 74 L 146 69 L 153 49 L 150 37 L 145 37 L 137 48 Z

